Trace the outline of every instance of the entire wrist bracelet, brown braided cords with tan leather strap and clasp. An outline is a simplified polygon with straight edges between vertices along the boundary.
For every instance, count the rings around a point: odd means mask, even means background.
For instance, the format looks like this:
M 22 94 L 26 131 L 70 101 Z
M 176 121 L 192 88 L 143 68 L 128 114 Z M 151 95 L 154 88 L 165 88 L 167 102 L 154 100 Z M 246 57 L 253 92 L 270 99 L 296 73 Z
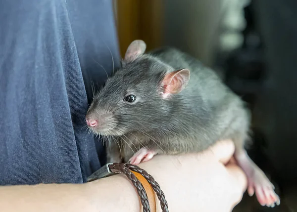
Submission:
M 89 176 L 87 181 L 90 182 L 117 173 L 125 174 L 128 179 L 130 179 L 140 196 L 143 212 L 156 212 L 157 200 L 155 199 L 154 192 L 156 193 L 156 196 L 160 202 L 162 212 L 169 212 L 165 195 L 159 184 L 150 174 L 148 174 L 146 170 L 143 170 L 138 166 L 124 163 L 106 164 L 105 166 L 101 167 L 101 169 L 95 171 L 91 176 Z M 144 187 L 146 187 L 146 189 Z M 152 206 L 153 211 L 151 211 L 150 206 Z

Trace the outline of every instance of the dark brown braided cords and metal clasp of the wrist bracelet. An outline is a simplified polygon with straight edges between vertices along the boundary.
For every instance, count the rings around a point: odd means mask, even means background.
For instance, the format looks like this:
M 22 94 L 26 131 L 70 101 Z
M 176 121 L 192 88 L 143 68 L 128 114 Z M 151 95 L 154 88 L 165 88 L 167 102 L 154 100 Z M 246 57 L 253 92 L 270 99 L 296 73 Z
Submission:
M 124 164 L 124 163 L 113 163 L 113 164 L 106 164 L 101 169 L 94 172 L 91 176 L 88 177 L 88 182 L 102 178 L 107 177 L 113 174 L 122 173 L 127 176 L 127 178 L 132 182 L 134 187 L 137 189 L 137 193 L 140 196 L 141 203 L 143 206 L 143 212 L 150 212 L 149 207 L 149 201 L 148 201 L 148 195 L 146 190 L 144 189 L 142 183 L 139 181 L 139 179 L 135 176 L 134 173 L 131 172 L 137 172 L 141 174 L 151 185 L 152 189 L 156 192 L 157 197 L 160 201 L 162 212 L 169 212 L 168 211 L 168 204 L 165 199 L 165 195 L 163 191 L 161 190 L 159 184 L 154 180 L 154 178 L 148 174 L 146 170 L 143 170 L 139 168 L 138 166 L 132 165 L 132 164 Z

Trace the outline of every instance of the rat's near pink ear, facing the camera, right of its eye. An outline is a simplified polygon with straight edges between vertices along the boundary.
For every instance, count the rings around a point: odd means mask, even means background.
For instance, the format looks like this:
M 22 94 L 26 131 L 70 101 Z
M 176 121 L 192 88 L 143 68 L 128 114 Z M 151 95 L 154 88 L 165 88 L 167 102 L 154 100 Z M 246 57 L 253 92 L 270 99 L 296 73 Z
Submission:
M 165 75 L 162 85 L 162 97 L 167 98 L 170 94 L 181 92 L 190 81 L 190 71 L 188 69 L 181 69 L 170 72 Z

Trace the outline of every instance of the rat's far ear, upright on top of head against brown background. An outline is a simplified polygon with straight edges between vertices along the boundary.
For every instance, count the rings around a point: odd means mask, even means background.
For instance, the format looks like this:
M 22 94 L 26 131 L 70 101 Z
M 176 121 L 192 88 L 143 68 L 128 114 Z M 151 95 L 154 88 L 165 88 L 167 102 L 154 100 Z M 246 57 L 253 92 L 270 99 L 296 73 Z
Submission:
M 130 43 L 125 54 L 125 61 L 131 62 L 143 55 L 146 51 L 147 44 L 142 40 L 135 40 Z

